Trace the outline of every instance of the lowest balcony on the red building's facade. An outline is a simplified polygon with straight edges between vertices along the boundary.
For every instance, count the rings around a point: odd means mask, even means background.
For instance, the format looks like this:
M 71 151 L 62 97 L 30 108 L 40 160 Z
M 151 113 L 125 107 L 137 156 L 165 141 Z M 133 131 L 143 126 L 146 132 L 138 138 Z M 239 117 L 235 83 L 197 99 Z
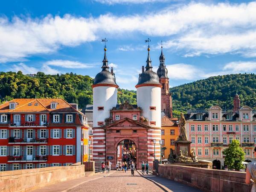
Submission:
M 8 156 L 8 162 L 45 162 L 47 155 Z

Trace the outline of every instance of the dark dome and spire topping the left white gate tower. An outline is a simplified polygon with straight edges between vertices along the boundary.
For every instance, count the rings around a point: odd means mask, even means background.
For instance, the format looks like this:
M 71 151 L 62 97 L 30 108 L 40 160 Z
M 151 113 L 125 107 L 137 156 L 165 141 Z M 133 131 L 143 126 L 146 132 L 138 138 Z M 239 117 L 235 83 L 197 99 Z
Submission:
M 116 85 L 116 77 L 114 73 L 109 72 L 109 67 L 108 67 L 108 59 L 106 57 L 106 48 L 105 50 L 105 55 L 104 55 L 104 59 L 103 59 L 103 64 L 102 64 L 102 71 L 99 72 L 94 79 L 93 84 L 113 84 Z M 113 70 L 113 68 L 111 68 L 111 70 Z

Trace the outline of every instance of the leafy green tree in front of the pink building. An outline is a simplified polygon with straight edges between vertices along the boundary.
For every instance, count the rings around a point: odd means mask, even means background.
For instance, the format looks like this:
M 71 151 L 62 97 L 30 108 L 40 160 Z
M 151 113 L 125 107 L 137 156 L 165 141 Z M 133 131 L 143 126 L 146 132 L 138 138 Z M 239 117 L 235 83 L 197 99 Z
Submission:
M 233 140 L 229 147 L 223 151 L 225 157 L 225 164 L 229 169 L 236 169 L 237 171 L 243 168 L 242 161 L 244 161 L 244 151 L 240 147 L 238 140 Z

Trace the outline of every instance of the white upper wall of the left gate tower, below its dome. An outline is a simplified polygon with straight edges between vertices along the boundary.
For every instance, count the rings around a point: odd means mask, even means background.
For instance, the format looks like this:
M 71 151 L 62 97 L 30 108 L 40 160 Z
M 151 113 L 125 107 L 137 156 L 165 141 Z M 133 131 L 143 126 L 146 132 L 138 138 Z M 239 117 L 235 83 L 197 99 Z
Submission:
M 99 127 L 98 122 L 104 122 L 110 117 L 110 110 L 117 104 L 117 88 L 99 86 L 93 88 L 93 127 Z M 104 107 L 104 110 L 98 110 Z

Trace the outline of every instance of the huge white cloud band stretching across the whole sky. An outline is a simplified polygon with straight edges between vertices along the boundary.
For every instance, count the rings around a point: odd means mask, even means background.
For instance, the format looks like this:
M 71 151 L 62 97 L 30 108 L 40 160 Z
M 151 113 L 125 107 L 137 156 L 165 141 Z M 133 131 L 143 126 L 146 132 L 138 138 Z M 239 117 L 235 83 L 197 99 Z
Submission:
M 186 56 L 233 52 L 255 57 L 255 10 L 256 2 L 189 3 L 150 15 L 48 15 L 34 19 L 14 17 L 11 21 L 0 17 L 0 62 L 49 54 L 63 46 L 74 47 L 105 35 L 119 38 L 131 33 L 167 36 L 171 40 L 166 47 L 184 49 Z

